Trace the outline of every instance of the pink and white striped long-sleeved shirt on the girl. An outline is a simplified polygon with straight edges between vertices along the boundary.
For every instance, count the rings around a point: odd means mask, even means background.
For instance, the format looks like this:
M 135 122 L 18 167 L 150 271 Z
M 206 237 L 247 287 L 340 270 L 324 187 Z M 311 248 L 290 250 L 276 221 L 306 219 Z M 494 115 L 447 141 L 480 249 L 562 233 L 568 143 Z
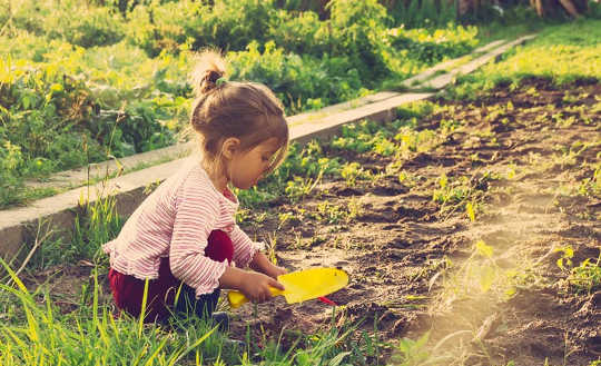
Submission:
M 236 196 L 219 192 L 198 159 L 190 158 L 165 180 L 129 217 L 119 236 L 102 246 L 110 266 L 136 278 L 157 278 L 161 257 L 169 257 L 171 273 L 209 294 L 219 285 L 227 260 L 205 256 L 210 231 L 227 233 L 234 245 L 233 260 L 245 267 L 262 248 L 236 225 Z

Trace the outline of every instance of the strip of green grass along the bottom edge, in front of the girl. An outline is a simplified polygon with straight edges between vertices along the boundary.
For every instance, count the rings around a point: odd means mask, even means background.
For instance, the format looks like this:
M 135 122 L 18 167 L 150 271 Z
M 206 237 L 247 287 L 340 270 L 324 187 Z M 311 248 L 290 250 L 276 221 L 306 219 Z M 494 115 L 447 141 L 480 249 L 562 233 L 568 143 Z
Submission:
M 73 311 L 61 310 L 51 294 L 30 293 L 4 264 L 9 281 L 0 285 L 0 364 L 13 365 L 351 365 L 377 355 L 374 343 L 351 342 L 353 326 L 299 335 L 284 349 L 273 339 L 253 339 L 247 349 L 227 343 L 210 322 L 189 318 L 169 325 L 144 325 L 115 317 L 100 301 L 98 276 L 91 295 Z M 40 299 L 42 299 L 40 301 Z M 17 305 L 18 304 L 18 305 Z M 368 339 L 368 338 L 366 338 Z M 258 342 L 265 346 L 258 347 Z M 296 347 L 303 344 L 305 348 Z

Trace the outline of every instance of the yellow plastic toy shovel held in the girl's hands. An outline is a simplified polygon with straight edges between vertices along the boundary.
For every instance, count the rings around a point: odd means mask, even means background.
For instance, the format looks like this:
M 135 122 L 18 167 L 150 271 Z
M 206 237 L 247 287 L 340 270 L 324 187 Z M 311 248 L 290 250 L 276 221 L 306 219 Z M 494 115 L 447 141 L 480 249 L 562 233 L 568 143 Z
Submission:
M 311 300 L 339 290 L 348 284 L 348 275 L 337 268 L 309 268 L 277 276 L 285 290 L 272 287 L 272 296 L 284 295 L 288 304 Z M 227 294 L 231 308 L 248 301 L 240 291 Z

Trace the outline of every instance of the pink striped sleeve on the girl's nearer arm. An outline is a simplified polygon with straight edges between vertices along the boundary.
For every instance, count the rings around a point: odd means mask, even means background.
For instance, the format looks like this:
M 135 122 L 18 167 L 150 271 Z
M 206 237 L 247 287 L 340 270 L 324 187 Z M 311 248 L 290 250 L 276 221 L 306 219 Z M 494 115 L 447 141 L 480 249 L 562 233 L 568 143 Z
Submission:
M 207 238 L 219 216 L 219 205 L 205 187 L 184 185 L 176 202 L 176 217 L 169 249 L 171 273 L 196 289 L 211 293 L 219 286 L 227 263 L 205 256 Z

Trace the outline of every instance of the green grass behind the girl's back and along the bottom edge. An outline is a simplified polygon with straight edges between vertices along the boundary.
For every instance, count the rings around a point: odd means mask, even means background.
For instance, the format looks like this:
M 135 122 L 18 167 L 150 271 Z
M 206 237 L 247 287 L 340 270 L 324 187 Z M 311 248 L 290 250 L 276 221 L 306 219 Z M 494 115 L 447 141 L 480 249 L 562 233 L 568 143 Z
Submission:
M 70 239 L 41 243 L 26 271 L 53 265 L 91 263 L 89 278 L 81 278 L 80 295 L 49 291 L 46 284 L 28 289 L 6 263 L 0 279 L 0 365 L 366 365 L 377 357 L 380 342 L 358 324 L 337 324 L 333 313 L 327 330 L 280 334 L 268 338 L 252 332 L 246 349 L 233 349 L 227 334 L 198 318 L 173 319 L 167 326 L 142 325 L 139 318 L 115 317 L 102 294 L 100 278 L 108 269 L 100 245 L 122 225 L 112 197 L 85 204 Z M 45 240 L 46 235 L 41 235 Z M 76 283 L 77 284 L 77 283 Z M 77 286 L 77 285 L 76 285 Z M 79 298 L 78 298 L 79 296 Z M 59 306 L 70 304 L 70 306 Z M 253 319 L 248 319 L 253 320 Z M 287 337 L 287 346 L 282 337 Z M 293 337 L 290 339 L 290 337 Z M 361 338 L 361 340 L 356 340 Z M 292 345 L 290 345 L 292 342 Z

